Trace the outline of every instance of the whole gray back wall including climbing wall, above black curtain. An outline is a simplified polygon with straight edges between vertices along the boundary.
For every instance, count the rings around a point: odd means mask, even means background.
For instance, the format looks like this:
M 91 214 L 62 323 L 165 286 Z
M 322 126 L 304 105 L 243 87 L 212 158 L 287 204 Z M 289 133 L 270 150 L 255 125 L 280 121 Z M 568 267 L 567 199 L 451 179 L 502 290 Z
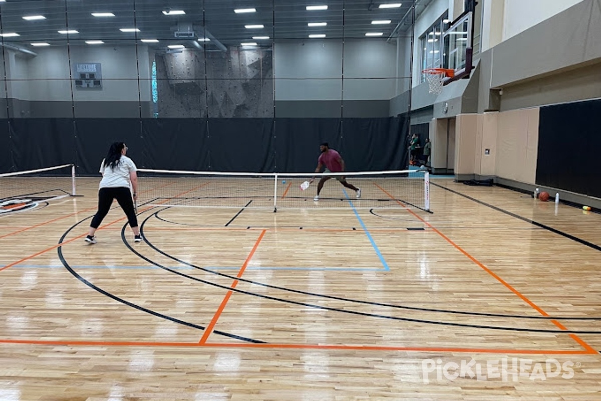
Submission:
M 283 41 L 273 52 L 154 55 L 133 44 L 65 43 L 32 57 L 5 49 L 4 98 L 10 117 L 150 117 L 156 61 L 159 117 L 388 117 L 409 82 L 410 49 L 399 50 L 382 38 Z M 102 90 L 72 85 L 76 63 L 102 64 Z

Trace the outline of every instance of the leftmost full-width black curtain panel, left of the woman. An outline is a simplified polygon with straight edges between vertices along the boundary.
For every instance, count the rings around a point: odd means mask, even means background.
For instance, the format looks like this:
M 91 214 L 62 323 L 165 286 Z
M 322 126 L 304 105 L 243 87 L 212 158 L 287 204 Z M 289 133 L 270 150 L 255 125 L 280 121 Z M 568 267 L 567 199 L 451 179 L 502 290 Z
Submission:
M 75 162 L 72 118 L 11 118 L 10 136 L 17 171 Z

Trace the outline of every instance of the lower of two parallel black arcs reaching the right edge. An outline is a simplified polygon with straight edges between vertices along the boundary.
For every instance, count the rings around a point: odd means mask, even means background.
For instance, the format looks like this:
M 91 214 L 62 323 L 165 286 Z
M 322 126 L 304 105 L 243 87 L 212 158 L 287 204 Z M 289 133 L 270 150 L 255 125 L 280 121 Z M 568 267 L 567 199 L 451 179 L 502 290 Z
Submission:
M 140 232 L 141 233 L 142 233 L 142 231 L 144 229 L 144 223 L 148 220 L 148 218 L 150 218 L 150 216 L 148 216 L 144 220 L 144 222 L 142 222 L 142 224 L 140 225 Z M 123 227 L 125 228 L 126 225 L 124 225 Z M 123 230 L 124 230 L 124 228 L 123 228 Z M 151 248 L 155 249 L 157 252 L 159 252 L 163 256 L 166 256 L 169 259 L 178 260 L 178 259 L 175 259 L 174 257 L 172 257 L 171 255 L 169 255 L 169 254 L 161 251 L 160 249 L 156 248 L 156 246 L 152 245 L 150 243 L 150 241 L 147 240 L 147 238 L 146 238 L 146 236 L 144 234 L 142 234 L 142 238 L 144 239 L 144 242 L 146 242 L 148 244 L 148 246 L 150 246 Z M 124 236 L 123 236 L 123 240 L 126 241 Z M 328 310 L 328 311 L 332 311 L 332 312 L 353 314 L 353 315 L 356 315 L 356 316 L 376 317 L 378 319 L 388 319 L 388 320 L 396 320 L 396 321 L 411 322 L 411 323 L 424 323 L 424 324 L 430 324 L 430 325 L 453 326 L 453 327 L 476 328 L 476 329 L 490 329 L 490 330 L 501 330 L 501 331 L 544 332 L 544 333 L 552 333 L 552 334 L 601 334 L 601 331 L 575 331 L 575 330 L 561 330 L 561 329 L 555 329 L 555 330 L 549 330 L 549 329 L 529 329 L 529 328 L 521 328 L 521 327 L 484 326 L 484 325 L 473 325 L 473 324 L 468 324 L 468 323 L 442 322 L 442 321 L 439 321 L 439 320 L 412 319 L 412 318 L 409 318 L 409 317 L 386 316 L 386 315 L 381 315 L 381 314 L 365 313 L 365 312 L 359 312 L 359 311 L 351 311 L 351 310 L 344 310 L 344 309 L 338 309 L 338 308 L 331 308 L 331 307 L 326 307 L 326 306 L 323 306 L 323 305 L 308 304 L 307 302 L 291 301 L 290 299 L 276 298 L 275 296 L 263 295 L 263 294 L 258 294 L 258 293 L 249 292 L 249 291 L 245 291 L 245 290 L 240 290 L 240 289 L 237 289 L 237 288 L 222 286 L 221 284 L 212 283 L 211 281 L 207 281 L 207 280 L 203 280 L 201 278 L 193 277 L 191 275 L 187 275 L 185 273 L 182 273 L 182 272 L 176 271 L 174 269 L 168 268 L 167 266 L 160 265 L 159 263 L 154 262 L 153 260 L 149 259 L 148 257 L 145 257 L 144 255 L 142 255 L 141 253 L 139 253 L 138 251 L 136 251 L 131 246 L 128 246 L 128 247 L 132 251 L 132 253 L 136 254 L 140 259 L 145 260 L 148 263 L 151 263 L 152 265 L 156 266 L 157 268 L 160 268 L 160 269 L 163 269 L 165 271 L 171 272 L 172 274 L 178 275 L 180 277 L 185 277 L 185 278 L 188 278 L 189 280 L 197 281 L 198 283 L 208 284 L 209 286 L 218 287 L 218 288 L 221 288 L 221 289 L 224 289 L 224 290 L 228 290 L 228 291 L 232 291 L 232 292 L 237 292 L 237 293 L 240 293 L 240 294 L 245 294 L 245 295 L 250 295 L 250 296 L 255 296 L 257 298 L 269 299 L 271 301 L 283 302 L 285 304 L 299 305 L 299 306 L 302 306 L 302 307 L 308 307 L 308 308 L 313 308 L 313 309 L 318 309 L 318 310 Z M 185 264 L 185 265 L 194 267 L 194 268 L 199 269 L 201 271 L 210 272 L 210 273 L 213 273 L 213 274 L 216 274 L 216 275 L 220 275 L 220 276 L 224 276 L 224 277 L 228 277 L 228 278 L 234 278 L 233 276 L 230 276 L 230 275 L 227 275 L 227 274 L 218 273 L 218 272 L 212 271 L 210 269 L 200 268 L 198 266 L 194 266 L 194 265 L 191 265 L 190 263 L 186 263 L 186 262 L 183 262 L 183 261 L 181 261 L 181 262 L 183 264 Z M 246 281 L 246 282 L 249 282 L 249 283 L 258 284 L 258 285 L 262 285 L 262 286 L 266 286 L 266 287 L 273 287 L 273 286 L 268 286 L 267 284 L 263 284 L 263 283 L 256 283 L 254 281 L 243 280 L 242 278 L 239 278 L 239 277 L 236 277 L 235 280 Z M 282 287 L 279 287 L 279 289 L 290 291 L 290 292 L 299 292 L 299 293 L 302 293 L 300 291 L 285 289 L 285 288 L 282 288 Z M 343 298 L 337 298 L 337 297 L 333 297 L 333 296 L 325 296 L 325 295 L 312 294 L 312 293 L 305 293 L 305 294 L 314 295 L 314 296 L 321 296 L 322 298 L 343 299 Z M 353 301 L 353 300 L 347 300 L 347 299 L 344 299 L 344 301 L 360 302 L 360 303 L 365 303 L 365 304 L 371 303 L 371 302 L 361 302 L 361 301 Z M 470 314 L 475 314 L 475 313 L 470 313 Z M 526 317 L 526 316 L 520 316 L 520 317 Z M 545 316 L 537 316 L 537 317 L 539 317 L 539 318 L 543 317 L 546 320 L 551 319 L 551 317 L 545 317 Z M 591 320 L 591 319 L 587 319 L 587 320 Z

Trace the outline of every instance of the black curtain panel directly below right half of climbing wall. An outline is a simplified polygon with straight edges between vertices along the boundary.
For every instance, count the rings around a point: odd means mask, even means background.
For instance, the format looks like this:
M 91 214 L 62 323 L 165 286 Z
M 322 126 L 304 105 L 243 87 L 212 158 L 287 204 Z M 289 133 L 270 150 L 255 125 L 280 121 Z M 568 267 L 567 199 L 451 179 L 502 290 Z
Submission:
M 272 172 L 273 118 L 209 118 L 212 171 Z

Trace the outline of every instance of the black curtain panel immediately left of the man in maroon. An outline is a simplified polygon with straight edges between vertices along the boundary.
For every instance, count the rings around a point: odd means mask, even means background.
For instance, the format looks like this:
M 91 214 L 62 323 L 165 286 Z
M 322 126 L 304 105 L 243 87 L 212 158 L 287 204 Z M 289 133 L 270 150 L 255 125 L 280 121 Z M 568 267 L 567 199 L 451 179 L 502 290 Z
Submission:
M 275 164 L 278 173 L 311 173 L 317 167 L 319 145 L 341 147 L 340 118 L 276 118 Z M 344 158 L 344 155 L 343 155 Z

